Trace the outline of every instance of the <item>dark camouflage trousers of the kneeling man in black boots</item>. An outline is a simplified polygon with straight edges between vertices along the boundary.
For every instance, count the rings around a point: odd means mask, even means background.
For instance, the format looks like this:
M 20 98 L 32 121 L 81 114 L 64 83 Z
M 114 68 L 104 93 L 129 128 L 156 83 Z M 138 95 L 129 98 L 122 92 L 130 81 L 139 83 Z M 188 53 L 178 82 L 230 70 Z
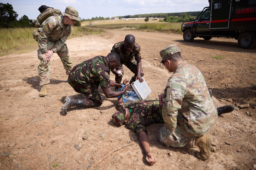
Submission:
M 74 90 L 78 93 L 84 94 L 85 99 L 83 99 L 83 106 L 84 107 L 97 107 L 101 106 L 102 99 L 101 95 L 98 92 L 97 88 L 99 84 L 86 84 L 86 83 L 78 83 L 75 81 L 75 73 L 72 71 L 76 70 L 76 66 L 70 71 L 68 83 L 71 87 L 74 88 Z

